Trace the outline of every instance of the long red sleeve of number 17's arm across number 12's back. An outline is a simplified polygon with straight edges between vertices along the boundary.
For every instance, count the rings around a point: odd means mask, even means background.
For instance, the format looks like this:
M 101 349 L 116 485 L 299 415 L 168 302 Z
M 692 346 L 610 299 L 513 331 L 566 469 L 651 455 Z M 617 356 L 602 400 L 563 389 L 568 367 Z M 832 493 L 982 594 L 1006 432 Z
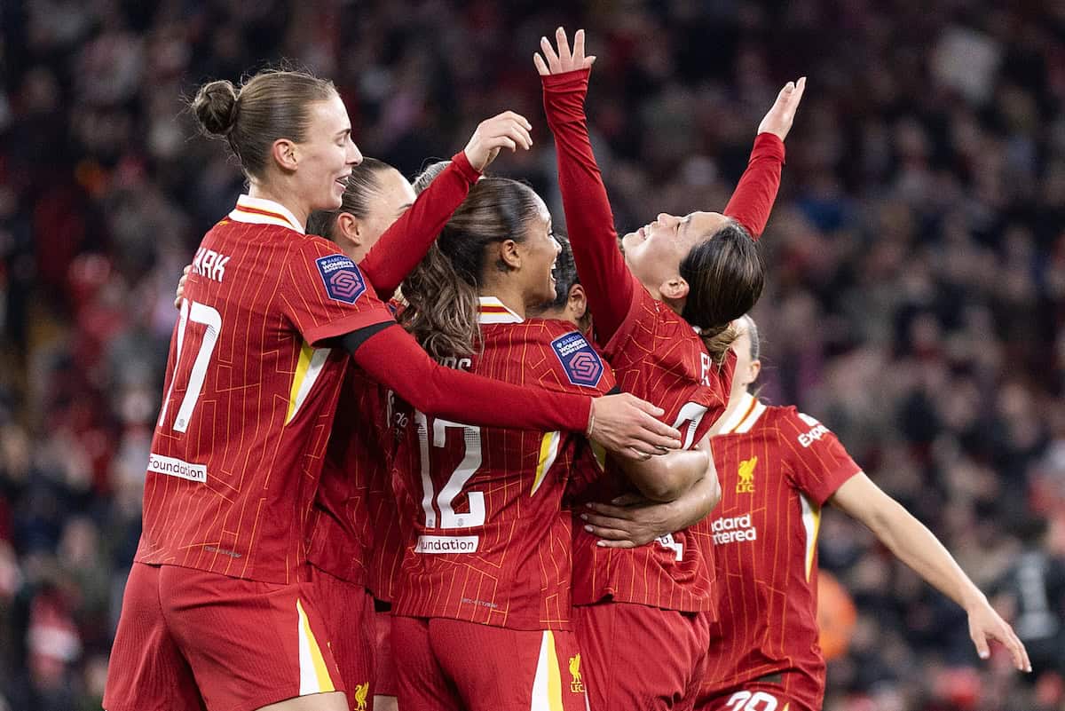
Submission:
M 590 397 L 445 368 L 398 327 L 379 331 L 349 350 L 372 378 L 430 416 L 542 431 L 585 432 L 588 428 Z

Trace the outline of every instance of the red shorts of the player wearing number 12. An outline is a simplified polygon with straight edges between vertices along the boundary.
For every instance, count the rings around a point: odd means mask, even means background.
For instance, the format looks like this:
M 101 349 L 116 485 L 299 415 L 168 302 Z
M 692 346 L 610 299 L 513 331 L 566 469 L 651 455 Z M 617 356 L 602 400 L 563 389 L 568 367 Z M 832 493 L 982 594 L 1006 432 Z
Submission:
M 573 632 L 392 618 L 403 711 L 587 711 Z

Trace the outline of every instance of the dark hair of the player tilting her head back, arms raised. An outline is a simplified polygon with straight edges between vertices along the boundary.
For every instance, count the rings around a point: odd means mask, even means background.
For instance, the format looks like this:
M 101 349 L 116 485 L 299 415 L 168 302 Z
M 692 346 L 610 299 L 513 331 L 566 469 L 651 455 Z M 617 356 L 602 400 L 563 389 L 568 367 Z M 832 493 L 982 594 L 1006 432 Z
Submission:
M 750 233 L 730 220 L 681 260 L 681 276 L 688 282 L 688 299 L 681 315 L 709 341 L 728 330 L 734 319 L 758 301 L 766 265 Z

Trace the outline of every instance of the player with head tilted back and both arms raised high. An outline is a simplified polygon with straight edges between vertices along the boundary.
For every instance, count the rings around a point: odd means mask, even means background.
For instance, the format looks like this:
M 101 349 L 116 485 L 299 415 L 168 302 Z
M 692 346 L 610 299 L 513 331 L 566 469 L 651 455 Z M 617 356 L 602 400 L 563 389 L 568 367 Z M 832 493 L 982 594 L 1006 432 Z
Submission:
M 805 82 L 785 86 L 763 119 L 725 214 L 659 215 L 625 235 L 622 253 L 584 112 L 594 57 L 585 56 L 583 31 L 573 51 L 561 28 L 556 42 L 557 51 L 543 38 L 543 55 L 537 54 L 535 63 L 595 341 L 623 391 L 663 408 L 666 421 L 685 433 L 686 448 L 706 447 L 704 437 L 727 402 L 734 360 L 727 348 L 730 321 L 761 292 L 764 267 L 754 237 L 775 199 L 783 140 Z M 667 459 L 629 462 L 624 474 L 638 480 L 634 473 L 640 467 L 660 468 Z M 617 468 L 587 495 L 607 500 L 624 493 L 626 479 Z M 704 473 L 700 481 L 710 477 L 712 472 Z M 663 501 L 692 485 L 665 473 L 649 479 L 661 489 L 641 492 Z M 712 506 L 703 486 L 695 492 Z M 701 525 L 628 550 L 597 546 L 594 536 L 575 527 L 574 622 L 592 711 L 691 707 L 706 661 L 714 585 L 714 547 Z

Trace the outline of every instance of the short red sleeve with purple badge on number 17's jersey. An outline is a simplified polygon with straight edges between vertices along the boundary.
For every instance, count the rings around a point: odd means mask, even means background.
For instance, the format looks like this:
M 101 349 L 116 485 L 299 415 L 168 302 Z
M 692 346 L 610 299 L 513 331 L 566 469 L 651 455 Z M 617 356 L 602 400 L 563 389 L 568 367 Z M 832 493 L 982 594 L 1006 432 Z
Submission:
M 394 320 L 355 262 L 327 239 L 293 241 L 281 269 L 282 313 L 311 346 L 366 326 Z

